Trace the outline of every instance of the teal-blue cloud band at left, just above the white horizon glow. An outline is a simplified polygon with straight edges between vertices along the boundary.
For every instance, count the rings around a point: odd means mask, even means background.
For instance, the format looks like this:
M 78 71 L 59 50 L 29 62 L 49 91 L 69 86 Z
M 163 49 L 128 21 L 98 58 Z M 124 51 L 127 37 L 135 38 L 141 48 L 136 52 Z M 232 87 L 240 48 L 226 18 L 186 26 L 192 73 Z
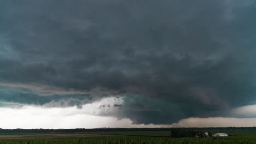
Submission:
M 0 102 L 18 104 L 44 105 L 54 103 L 55 106 L 82 106 L 92 101 L 89 94 L 46 94 L 34 93 L 30 89 L 0 87 Z M 53 106 L 53 105 L 49 105 Z

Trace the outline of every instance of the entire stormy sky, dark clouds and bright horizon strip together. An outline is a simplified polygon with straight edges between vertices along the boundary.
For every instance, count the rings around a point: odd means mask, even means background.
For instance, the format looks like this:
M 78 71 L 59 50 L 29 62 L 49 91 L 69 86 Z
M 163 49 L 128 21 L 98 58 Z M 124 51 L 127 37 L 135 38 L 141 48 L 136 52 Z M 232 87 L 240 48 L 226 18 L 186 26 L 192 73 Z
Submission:
M 253 127 L 255 7 L 2 0 L 0 128 Z

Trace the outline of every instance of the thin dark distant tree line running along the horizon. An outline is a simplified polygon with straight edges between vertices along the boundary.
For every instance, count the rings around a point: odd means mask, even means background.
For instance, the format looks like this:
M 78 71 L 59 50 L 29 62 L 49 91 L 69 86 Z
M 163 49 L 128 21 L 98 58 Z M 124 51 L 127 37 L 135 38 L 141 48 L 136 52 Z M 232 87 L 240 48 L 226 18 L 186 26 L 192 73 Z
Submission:
M 97 128 L 97 129 L 1 129 L 0 133 L 78 133 L 96 131 L 170 131 L 176 128 Z M 182 128 L 183 130 L 256 130 L 256 127 Z

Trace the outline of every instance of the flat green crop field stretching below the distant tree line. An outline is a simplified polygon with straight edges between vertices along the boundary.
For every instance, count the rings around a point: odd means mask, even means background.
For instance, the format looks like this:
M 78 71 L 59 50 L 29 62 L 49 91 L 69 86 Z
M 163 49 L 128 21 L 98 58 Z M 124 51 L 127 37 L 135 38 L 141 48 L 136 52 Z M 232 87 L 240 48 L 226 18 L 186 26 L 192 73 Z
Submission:
M 108 131 L 86 133 L 0 133 L 0 144 L 39 144 L 39 143 L 84 143 L 84 144 L 128 144 L 128 143 L 179 143 L 179 144 L 228 144 L 255 143 L 256 130 L 210 130 L 214 133 L 227 133 L 229 137 L 171 138 L 170 131 Z

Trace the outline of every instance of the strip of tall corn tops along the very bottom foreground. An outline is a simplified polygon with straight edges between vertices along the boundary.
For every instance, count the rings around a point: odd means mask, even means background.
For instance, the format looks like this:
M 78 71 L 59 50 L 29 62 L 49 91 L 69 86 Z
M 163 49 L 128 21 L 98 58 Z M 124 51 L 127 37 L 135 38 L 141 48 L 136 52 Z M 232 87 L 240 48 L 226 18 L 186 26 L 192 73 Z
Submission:
M 256 144 L 256 140 L 195 140 L 195 139 L 177 139 L 177 140 L 0 140 L 0 144 Z

